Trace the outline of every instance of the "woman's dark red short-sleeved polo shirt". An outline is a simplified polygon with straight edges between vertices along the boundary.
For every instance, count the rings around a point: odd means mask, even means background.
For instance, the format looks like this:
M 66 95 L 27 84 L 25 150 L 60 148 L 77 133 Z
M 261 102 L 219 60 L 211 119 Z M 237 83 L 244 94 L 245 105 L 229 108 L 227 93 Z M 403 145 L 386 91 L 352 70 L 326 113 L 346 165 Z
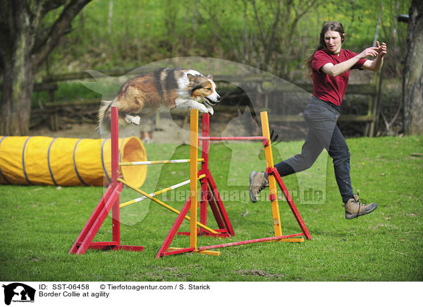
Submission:
M 332 77 L 320 71 L 321 66 L 332 63 L 333 65 L 347 61 L 357 54 L 347 49 L 341 49 L 339 54 L 331 54 L 324 50 L 317 51 L 312 59 L 313 95 L 326 102 L 332 102 L 341 106 L 345 90 L 347 89 L 350 69 L 361 68 L 366 59 L 360 59 L 357 63 L 340 76 Z

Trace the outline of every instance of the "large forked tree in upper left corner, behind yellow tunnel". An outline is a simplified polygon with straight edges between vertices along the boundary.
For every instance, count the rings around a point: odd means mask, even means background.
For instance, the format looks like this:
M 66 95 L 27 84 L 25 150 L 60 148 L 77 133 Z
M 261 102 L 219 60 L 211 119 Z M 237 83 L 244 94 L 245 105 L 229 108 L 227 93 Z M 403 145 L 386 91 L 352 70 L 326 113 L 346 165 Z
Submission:
M 0 134 L 28 133 L 35 72 L 90 1 L 0 0 Z M 62 6 L 59 17 L 47 24 L 47 13 Z

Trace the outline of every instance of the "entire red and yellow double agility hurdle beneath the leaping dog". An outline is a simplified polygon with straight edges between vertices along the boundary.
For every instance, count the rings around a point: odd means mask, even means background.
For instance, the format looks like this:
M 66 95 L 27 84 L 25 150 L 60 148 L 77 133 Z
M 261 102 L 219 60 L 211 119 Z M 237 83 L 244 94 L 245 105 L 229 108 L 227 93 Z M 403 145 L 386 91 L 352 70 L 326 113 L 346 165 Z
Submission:
M 126 205 L 131 205 L 137 203 L 141 200 L 149 198 L 155 203 L 165 207 L 166 209 L 174 212 L 178 215 L 176 222 L 173 224 L 171 231 L 169 231 L 168 236 L 161 246 L 159 253 L 157 253 L 156 258 L 161 258 L 164 255 L 173 255 L 176 253 L 186 253 L 186 252 L 196 252 L 196 253 L 207 253 L 209 255 L 219 255 L 219 251 L 210 251 L 215 248 L 222 248 L 228 246 L 237 246 L 242 244 L 257 243 L 264 241 L 290 241 L 290 242 L 300 242 L 304 241 L 301 236 L 305 236 L 306 239 L 311 239 L 311 235 L 305 223 L 303 222 L 300 213 L 298 212 L 293 199 L 290 197 L 286 186 L 284 185 L 281 176 L 278 175 L 276 168 L 274 168 L 273 156 L 271 152 L 271 143 L 270 143 L 270 133 L 269 133 L 269 121 L 267 118 L 267 112 L 262 112 L 262 131 L 263 136 L 245 136 L 245 137 L 210 137 L 209 136 L 209 114 L 203 114 L 202 117 L 202 136 L 198 136 L 198 110 L 191 110 L 191 120 L 190 120 L 190 159 L 175 159 L 175 160 L 161 160 L 161 161 L 142 161 L 142 162 L 118 162 L 118 108 L 111 107 L 111 184 L 104 193 L 102 199 L 99 201 L 99 204 L 94 209 L 90 219 L 88 219 L 85 227 L 80 232 L 78 238 L 73 244 L 69 253 L 83 254 L 87 251 L 88 248 L 94 249 L 111 249 L 111 250 L 126 250 L 126 251 L 143 251 L 144 246 L 127 246 L 121 245 L 121 236 L 120 236 L 120 219 L 119 211 L 121 207 Z M 202 141 L 202 158 L 198 158 L 198 146 L 199 141 Z M 232 242 L 232 243 L 223 243 L 214 246 L 202 246 L 197 248 L 197 236 L 221 236 L 228 237 L 234 236 L 235 232 L 229 220 L 229 217 L 226 213 L 226 209 L 223 205 L 223 201 L 219 195 L 219 191 L 214 183 L 213 176 L 209 171 L 209 141 L 212 140 L 262 140 L 264 145 L 264 153 L 266 155 L 266 173 L 269 175 L 269 188 L 270 195 L 269 199 L 271 200 L 272 215 L 273 215 L 273 224 L 275 236 L 268 238 L 252 239 L 247 241 Z M 201 162 L 202 167 L 199 170 L 197 163 Z M 190 163 L 190 179 L 177 183 L 168 188 L 164 188 L 160 191 L 154 193 L 146 193 L 145 191 L 140 190 L 132 186 L 127 181 L 119 178 L 119 166 L 130 166 L 130 165 L 150 165 L 150 164 L 168 164 L 168 163 Z M 197 205 L 198 205 L 198 183 L 200 180 L 201 189 L 201 203 L 200 203 L 200 222 L 197 221 Z M 166 191 L 171 191 L 180 186 L 185 186 L 190 184 L 190 197 L 186 200 L 185 205 L 182 210 L 178 211 L 167 205 L 166 203 L 154 198 L 154 196 Z M 292 210 L 295 219 L 297 219 L 302 233 L 300 234 L 289 234 L 282 235 L 281 231 L 281 219 L 279 215 L 278 207 L 278 198 L 276 192 L 276 183 L 278 183 L 279 188 L 283 195 L 285 195 L 288 205 Z M 136 198 L 135 200 L 130 200 L 126 203 L 119 204 L 119 195 L 122 191 L 122 184 L 132 188 L 134 191 L 142 194 L 142 197 Z M 197 205 L 191 205 L 192 201 L 196 200 Z M 216 223 L 218 224 L 219 229 L 210 229 L 207 227 L 207 206 L 210 205 Z M 112 211 L 112 241 L 104 242 L 92 242 L 94 236 L 97 234 L 98 229 L 101 227 L 104 219 L 109 214 L 110 210 Z M 190 210 L 190 217 L 187 216 L 188 211 Z M 177 232 L 180 224 L 183 222 L 183 219 L 188 219 L 190 221 L 190 232 Z M 183 234 L 190 236 L 190 247 L 188 248 L 172 248 L 170 247 L 171 241 L 176 234 Z M 295 238 L 298 237 L 298 238 Z M 301 238 L 300 238 L 301 237 Z

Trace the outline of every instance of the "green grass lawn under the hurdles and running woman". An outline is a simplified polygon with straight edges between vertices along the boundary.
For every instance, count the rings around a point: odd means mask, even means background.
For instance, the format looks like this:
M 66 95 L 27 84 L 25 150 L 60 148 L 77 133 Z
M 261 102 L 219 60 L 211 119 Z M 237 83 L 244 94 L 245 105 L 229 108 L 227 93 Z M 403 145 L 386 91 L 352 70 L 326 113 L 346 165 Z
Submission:
M 353 185 L 360 188 L 360 196 L 379 203 L 375 212 L 353 220 L 343 217 L 331 159 L 323 155 L 303 177 L 284 178 L 313 236 L 311 241 L 222 248 L 219 257 L 185 253 L 156 260 L 176 215 L 147 201 L 125 207 L 121 212 L 122 243 L 143 245 L 145 251 L 89 250 L 85 255 L 68 255 L 104 188 L 0 186 L 0 279 L 422 281 L 423 158 L 412 153 L 423 152 L 423 137 L 355 138 L 348 140 L 348 144 Z M 301 145 L 302 142 L 279 143 L 275 161 L 298 152 Z M 210 169 L 219 189 L 227 191 L 229 199 L 225 205 L 236 236 L 200 237 L 199 246 L 274 235 L 269 203 L 261 200 L 253 204 L 246 199 L 250 170 L 264 168 L 257 148 L 257 143 L 212 145 Z M 169 145 L 153 144 L 146 149 L 154 159 L 188 156 L 188 146 L 175 150 Z M 322 170 L 326 179 L 321 179 Z M 320 176 L 319 182 L 313 181 L 316 176 L 312 174 Z M 154 166 L 149 169 L 144 188 L 150 192 L 187 178 L 186 164 Z M 302 202 L 302 186 L 318 186 L 317 183 L 324 192 L 324 201 Z M 121 201 L 136 197 L 137 193 L 125 188 Z M 168 193 L 161 199 L 178 209 L 184 203 L 182 194 Z M 286 203 L 281 201 L 280 207 L 283 233 L 300 232 Z M 246 210 L 248 214 L 243 217 L 241 214 Z M 213 227 L 212 214 L 209 217 Z M 189 223 L 183 222 L 180 230 L 188 229 Z M 95 239 L 111 239 L 110 217 Z M 188 247 L 189 239 L 178 236 L 171 246 Z

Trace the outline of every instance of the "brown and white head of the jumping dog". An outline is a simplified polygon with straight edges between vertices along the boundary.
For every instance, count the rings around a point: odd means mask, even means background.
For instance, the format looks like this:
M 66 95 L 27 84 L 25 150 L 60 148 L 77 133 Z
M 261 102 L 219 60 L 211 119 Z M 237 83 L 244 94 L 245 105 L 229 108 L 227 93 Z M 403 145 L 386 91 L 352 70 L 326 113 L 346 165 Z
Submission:
M 214 105 L 215 102 L 221 100 L 220 95 L 216 92 L 216 84 L 213 82 L 212 75 L 205 77 L 188 73 L 187 77 L 190 80 L 188 87 L 194 100 L 204 102 L 206 105 Z

